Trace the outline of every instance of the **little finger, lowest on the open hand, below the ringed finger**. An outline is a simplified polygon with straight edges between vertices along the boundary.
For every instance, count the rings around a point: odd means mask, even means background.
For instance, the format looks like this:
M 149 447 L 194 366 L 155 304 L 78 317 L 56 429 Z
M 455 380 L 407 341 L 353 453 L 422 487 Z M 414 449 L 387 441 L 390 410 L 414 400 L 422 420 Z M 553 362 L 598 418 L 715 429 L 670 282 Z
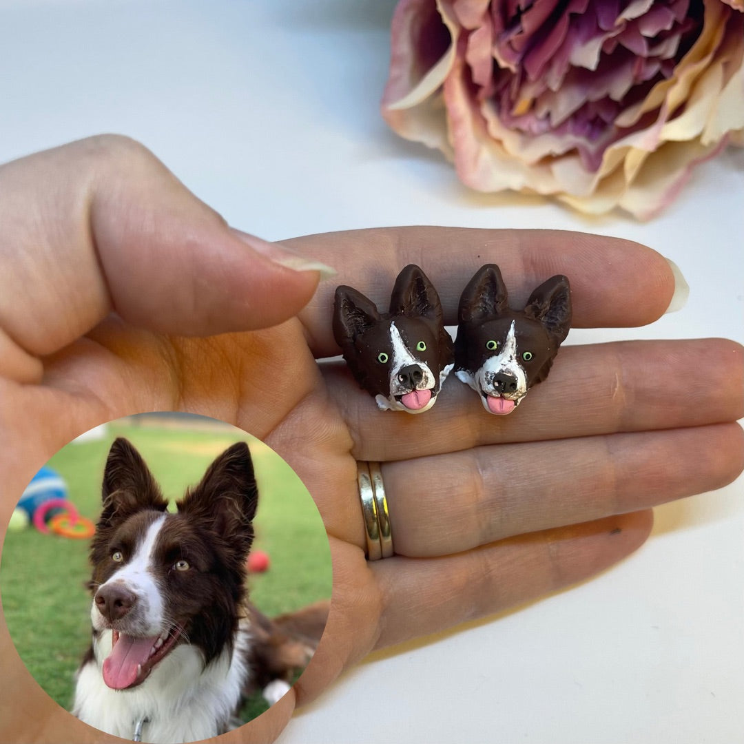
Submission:
M 503 612 L 585 580 L 635 551 L 651 527 L 652 514 L 644 511 L 454 556 L 377 561 L 372 568 L 385 603 L 377 647 Z

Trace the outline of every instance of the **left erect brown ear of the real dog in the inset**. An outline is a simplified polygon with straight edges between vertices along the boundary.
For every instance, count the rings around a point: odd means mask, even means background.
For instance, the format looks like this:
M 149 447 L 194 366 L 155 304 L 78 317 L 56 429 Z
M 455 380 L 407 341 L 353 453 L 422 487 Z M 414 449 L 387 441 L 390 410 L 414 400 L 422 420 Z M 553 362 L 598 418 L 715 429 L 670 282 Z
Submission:
M 102 525 L 116 515 L 123 516 L 142 508 L 164 511 L 168 505 L 140 453 L 124 437 L 115 439 L 109 450 L 101 496 Z

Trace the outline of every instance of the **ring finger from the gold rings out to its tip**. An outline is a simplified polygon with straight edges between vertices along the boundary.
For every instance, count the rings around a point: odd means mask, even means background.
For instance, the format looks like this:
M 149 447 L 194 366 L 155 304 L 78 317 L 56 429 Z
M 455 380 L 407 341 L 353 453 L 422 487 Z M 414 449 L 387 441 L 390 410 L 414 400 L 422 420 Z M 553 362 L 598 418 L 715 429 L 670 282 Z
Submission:
M 478 447 L 389 463 L 382 478 L 396 554 L 427 557 L 704 493 L 743 468 L 730 423 Z

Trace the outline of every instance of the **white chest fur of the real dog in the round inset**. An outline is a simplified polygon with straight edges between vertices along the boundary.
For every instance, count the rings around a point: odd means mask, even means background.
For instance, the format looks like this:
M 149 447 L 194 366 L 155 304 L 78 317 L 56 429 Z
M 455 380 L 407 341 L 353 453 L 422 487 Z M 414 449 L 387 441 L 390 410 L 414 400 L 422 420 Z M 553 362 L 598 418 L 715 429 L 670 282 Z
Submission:
M 131 690 L 112 690 L 103 682 L 100 667 L 111 650 L 111 631 L 95 644 L 94 661 L 81 667 L 73 713 L 83 722 L 122 739 L 131 740 L 135 725 L 142 741 L 173 744 L 217 736 L 240 702 L 246 679 L 243 662 L 250 643 L 241 629 L 233 652 L 225 650 L 207 667 L 199 650 L 187 644 L 174 649 L 150 677 Z

